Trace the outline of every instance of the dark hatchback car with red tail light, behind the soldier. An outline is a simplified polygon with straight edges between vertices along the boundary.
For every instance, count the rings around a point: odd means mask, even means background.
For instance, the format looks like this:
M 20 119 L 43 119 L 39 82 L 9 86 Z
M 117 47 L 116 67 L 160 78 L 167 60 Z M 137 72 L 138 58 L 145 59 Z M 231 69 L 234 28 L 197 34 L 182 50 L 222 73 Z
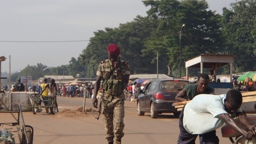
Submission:
M 162 113 L 173 113 L 178 116 L 180 112 L 174 108 L 175 96 L 186 85 L 184 79 L 153 79 L 140 91 L 137 101 L 138 115 L 150 112 L 151 118 L 157 118 Z

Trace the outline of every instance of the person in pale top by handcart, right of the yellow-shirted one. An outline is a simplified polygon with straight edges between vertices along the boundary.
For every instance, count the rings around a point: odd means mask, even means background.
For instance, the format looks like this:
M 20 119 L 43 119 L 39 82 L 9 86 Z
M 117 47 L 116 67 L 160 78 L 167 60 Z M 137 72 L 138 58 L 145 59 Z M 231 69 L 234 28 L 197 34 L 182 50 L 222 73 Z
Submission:
M 56 83 L 55 83 L 55 80 L 54 79 L 51 79 L 51 82 L 46 84 L 46 86 L 43 88 L 41 94 L 48 88 L 49 92 L 48 92 L 48 96 L 49 97 L 55 97 L 56 96 L 56 93 L 57 93 L 57 87 L 56 87 Z M 48 98 L 49 98 L 48 97 Z M 51 107 L 50 108 L 50 112 L 48 114 L 52 114 L 54 115 L 54 112 L 53 112 L 53 108 Z

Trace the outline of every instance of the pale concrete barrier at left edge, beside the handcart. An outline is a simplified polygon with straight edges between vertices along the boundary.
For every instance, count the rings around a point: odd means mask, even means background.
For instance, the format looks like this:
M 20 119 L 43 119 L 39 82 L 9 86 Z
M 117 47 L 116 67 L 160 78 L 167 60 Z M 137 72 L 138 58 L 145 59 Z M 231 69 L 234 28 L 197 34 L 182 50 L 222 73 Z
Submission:
M 34 94 L 34 92 L 11 92 L 11 110 L 17 110 L 17 108 L 14 107 L 15 104 L 21 105 L 22 111 L 32 111 L 32 105 L 31 105 L 31 96 Z M 6 107 L 9 107 L 9 92 L 1 93 L 0 94 L 0 100 L 6 105 Z M 1 102 L 0 102 L 1 104 Z M 2 105 L 2 107 L 5 107 Z

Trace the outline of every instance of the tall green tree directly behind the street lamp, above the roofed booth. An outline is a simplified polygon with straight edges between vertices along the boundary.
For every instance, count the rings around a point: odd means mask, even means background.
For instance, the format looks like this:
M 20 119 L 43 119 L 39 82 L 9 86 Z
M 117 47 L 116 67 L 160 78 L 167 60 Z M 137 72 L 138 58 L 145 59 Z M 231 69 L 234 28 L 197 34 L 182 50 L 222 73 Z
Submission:
M 205 0 L 146 0 L 148 17 L 154 19 L 159 25 L 147 41 L 147 51 L 159 51 L 166 59 L 163 61 L 171 71 L 176 71 L 179 65 L 179 32 L 182 30 L 181 54 L 183 75 L 185 75 L 183 61 L 203 53 L 217 54 L 222 52 L 221 16 L 214 11 L 207 10 Z M 152 51 L 152 50 L 151 50 Z M 154 57 L 153 57 L 154 59 Z M 152 60 L 153 60 L 152 59 Z M 167 69 L 167 68 L 165 68 Z M 177 75 L 177 74 L 176 74 Z

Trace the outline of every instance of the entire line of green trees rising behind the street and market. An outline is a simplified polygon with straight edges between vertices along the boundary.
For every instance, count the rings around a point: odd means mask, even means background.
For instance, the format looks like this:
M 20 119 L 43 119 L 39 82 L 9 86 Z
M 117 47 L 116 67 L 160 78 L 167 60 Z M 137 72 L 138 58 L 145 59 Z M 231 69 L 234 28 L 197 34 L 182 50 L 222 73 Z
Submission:
M 107 59 L 107 46 L 111 43 L 120 46 L 121 60 L 129 63 L 132 74 L 156 73 L 158 52 L 159 73 L 177 76 L 179 48 L 182 76 L 185 76 L 184 61 L 204 53 L 237 54 L 236 72 L 256 69 L 249 64 L 256 59 L 256 0 L 232 3 L 231 10 L 223 8 L 223 15 L 209 10 L 206 0 L 142 2 L 150 7 L 146 17 L 137 15 L 118 28 L 97 30 L 86 49 L 77 59 L 72 57 L 69 64 L 50 68 L 43 64 L 28 65 L 18 75 L 37 79 L 46 74 L 76 76 L 79 73 L 82 77 L 95 78 L 100 61 Z M 223 67 L 218 71 L 218 74 L 227 73 L 229 69 Z M 198 71 L 190 75 L 196 76 Z

